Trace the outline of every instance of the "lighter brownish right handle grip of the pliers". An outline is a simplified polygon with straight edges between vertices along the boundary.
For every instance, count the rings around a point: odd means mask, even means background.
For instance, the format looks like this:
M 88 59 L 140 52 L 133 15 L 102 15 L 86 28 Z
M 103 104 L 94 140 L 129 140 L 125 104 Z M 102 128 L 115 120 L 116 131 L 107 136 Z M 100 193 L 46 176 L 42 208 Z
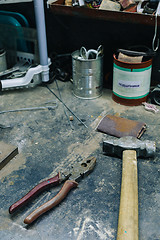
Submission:
M 72 181 L 72 180 L 67 180 L 64 183 L 63 187 L 61 188 L 60 192 L 54 198 L 52 198 L 48 202 L 46 202 L 43 205 L 41 205 L 39 208 L 37 208 L 35 211 L 33 211 L 29 216 L 27 216 L 24 219 L 24 223 L 26 223 L 26 224 L 32 223 L 39 216 L 41 216 L 43 213 L 47 212 L 51 208 L 53 208 L 56 205 L 58 205 L 67 196 L 69 191 L 72 188 L 77 187 L 77 186 L 78 186 L 77 182 Z

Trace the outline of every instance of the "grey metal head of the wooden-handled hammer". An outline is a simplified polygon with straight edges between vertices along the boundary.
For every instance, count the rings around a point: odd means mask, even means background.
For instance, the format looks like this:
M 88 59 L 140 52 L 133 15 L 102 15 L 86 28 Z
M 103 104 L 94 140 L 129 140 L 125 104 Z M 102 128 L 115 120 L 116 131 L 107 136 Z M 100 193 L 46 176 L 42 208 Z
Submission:
M 137 157 L 149 158 L 154 156 L 156 144 L 154 141 L 141 141 L 131 136 L 111 138 L 103 142 L 103 152 L 107 155 L 122 157 L 124 150 L 135 150 Z

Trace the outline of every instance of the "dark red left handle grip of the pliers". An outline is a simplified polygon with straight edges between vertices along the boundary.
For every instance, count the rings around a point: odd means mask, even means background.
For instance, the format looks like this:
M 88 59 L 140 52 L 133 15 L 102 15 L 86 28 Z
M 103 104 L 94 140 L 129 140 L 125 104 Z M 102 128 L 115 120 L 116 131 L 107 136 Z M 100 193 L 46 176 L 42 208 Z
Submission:
M 38 185 L 32 188 L 32 190 L 30 190 L 24 197 L 22 197 L 20 200 L 12 204 L 9 207 L 9 213 L 13 213 L 16 210 L 20 209 L 21 207 L 26 205 L 29 201 L 31 201 L 33 198 L 35 198 L 39 193 L 41 193 L 42 191 L 44 191 L 49 187 L 58 185 L 59 182 L 60 182 L 60 173 L 58 173 L 56 176 L 48 180 L 40 182 Z

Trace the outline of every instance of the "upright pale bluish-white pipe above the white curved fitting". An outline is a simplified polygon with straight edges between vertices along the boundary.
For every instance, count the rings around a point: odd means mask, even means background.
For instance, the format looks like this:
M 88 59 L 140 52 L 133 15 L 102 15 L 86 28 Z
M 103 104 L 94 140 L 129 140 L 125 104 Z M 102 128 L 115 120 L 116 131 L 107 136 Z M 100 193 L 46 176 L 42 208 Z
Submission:
M 40 64 L 42 66 L 48 66 L 48 52 L 43 0 L 34 0 L 34 11 L 36 18 Z M 49 81 L 49 71 L 42 72 L 42 81 Z

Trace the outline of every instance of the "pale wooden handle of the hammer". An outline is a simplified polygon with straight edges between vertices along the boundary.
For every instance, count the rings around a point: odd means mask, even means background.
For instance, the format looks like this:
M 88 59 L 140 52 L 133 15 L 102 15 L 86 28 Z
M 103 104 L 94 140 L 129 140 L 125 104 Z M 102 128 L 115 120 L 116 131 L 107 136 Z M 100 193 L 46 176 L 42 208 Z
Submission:
M 137 154 L 134 150 L 123 152 L 117 240 L 138 240 Z

